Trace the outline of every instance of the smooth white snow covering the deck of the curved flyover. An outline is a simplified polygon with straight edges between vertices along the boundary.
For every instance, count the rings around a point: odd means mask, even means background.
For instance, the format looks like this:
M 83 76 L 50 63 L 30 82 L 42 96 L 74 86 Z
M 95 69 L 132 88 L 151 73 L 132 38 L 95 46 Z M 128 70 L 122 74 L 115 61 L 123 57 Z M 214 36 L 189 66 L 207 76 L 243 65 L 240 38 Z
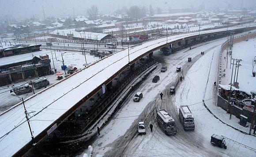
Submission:
M 238 29 L 241 27 L 231 27 Z M 200 34 L 225 31 L 214 29 L 200 31 Z M 168 37 L 168 43 L 198 35 L 198 32 L 179 34 Z M 151 51 L 156 47 L 166 44 L 166 37 L 151 40 L 135 47 L 129 48 L 130 61 Z M 26 99 L 25 106 L 30 113 L 30 125 L 34 137 L 38 136 L 65 112 L 70 110 L 77 102 L 83 99 L 91 91 L 113 76 L 118 70 L 128 64 L 128 49 L 124 49 L 109 55 L 78 73 L 73 74 L 49 88 L 38 92 Z M 0 152 L 3 156 L 12 156 L 31 141 L 30 130 L 26 122 L 22 102 L 0 115 Z

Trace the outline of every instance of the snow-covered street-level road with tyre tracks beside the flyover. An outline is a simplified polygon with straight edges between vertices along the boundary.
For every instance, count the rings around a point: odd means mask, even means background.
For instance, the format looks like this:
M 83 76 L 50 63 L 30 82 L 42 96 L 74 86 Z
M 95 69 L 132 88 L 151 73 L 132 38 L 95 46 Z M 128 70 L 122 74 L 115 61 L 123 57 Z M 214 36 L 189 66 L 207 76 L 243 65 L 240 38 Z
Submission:
M 92 143 L 95 154 L 104 154 L 111 157 L 117 156 L 255 156 L 256 152 L 245 148 L 231 140 L 226 140 L 227 149 L 211 146 L 212 134 L 218 134 L 241 142 L 256 149 L 256 137 L 245 135 L 230 128 L 216 119 L 203 106 L 202 100 L 214 111 L 215 115 L 222 120 L 229 120 L 229 114 L 222 112 L 217 107 L 217 89 L 213 85 L 218 78 L 218 56 L 221 44 L 226 39 L 211 42 L 192 50 L 183 50 L 177 54 L 164 58 L 162 65 L 167 66 L 166 73 L 161 73 L 159 67 L 152 73 L 137 91 L 143 92 L 140 102 L 133 102 L 131 95 L 123 107 L 104 128 L 95 142 Z M 176 66 L 183 66 L 187 57 L 192 59 L 201 51 L 205 52 L 196 63 L 188 70 L 177 87 L 175 95 L 169 95 L 169 86 L 177 77 Z M 156 54 L 159 55 L 159 54 Z M 155 75 L 160 76 L 158 83 L 152 83 Z M 163 92 L 164 91 L 164 92 Z M 159 93 L 163 92 L 161 101 Z M 136 91 L 134 92 L 136 93 Z M 195 131 L 184 131 L 178 119 L 177 113 L 180 105 L 188 105 L 195 117 Z M 172 113 L 178 127 L 177 135 L 166 136 L 155 123 L 154 106 L 168 110 Z M 137 135 L 137 122 L 146 121 L 147 134 Z M 230 120 L 231 121 L 231 120 Z M 231 125 L 237 125 L 238 119 L 232 118 Z M 153 133 L 150 132 L 149 124 L 153 124 Z

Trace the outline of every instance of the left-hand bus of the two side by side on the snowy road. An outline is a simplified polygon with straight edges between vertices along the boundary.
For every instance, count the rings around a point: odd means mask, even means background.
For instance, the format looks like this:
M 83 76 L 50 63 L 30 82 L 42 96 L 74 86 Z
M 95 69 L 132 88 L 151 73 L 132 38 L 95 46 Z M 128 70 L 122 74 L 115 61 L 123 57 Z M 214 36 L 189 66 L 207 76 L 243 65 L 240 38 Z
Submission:
M 159 127 L 166 135 L 174 135 L 177 133 L 175 121 L 173 117 L 166 112 L 166 110 L 159 110 L 156 115 L 156 120 Z

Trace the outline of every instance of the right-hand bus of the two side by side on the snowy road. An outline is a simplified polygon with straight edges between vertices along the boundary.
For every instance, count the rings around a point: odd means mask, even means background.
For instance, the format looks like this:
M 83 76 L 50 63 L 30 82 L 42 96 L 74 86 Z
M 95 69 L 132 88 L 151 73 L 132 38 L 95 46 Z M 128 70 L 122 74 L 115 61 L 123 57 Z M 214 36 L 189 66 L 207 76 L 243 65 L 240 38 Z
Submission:
M 179 117 L 184 130 L 195 130 L 194 117 L 188 106 L 180 106 Z

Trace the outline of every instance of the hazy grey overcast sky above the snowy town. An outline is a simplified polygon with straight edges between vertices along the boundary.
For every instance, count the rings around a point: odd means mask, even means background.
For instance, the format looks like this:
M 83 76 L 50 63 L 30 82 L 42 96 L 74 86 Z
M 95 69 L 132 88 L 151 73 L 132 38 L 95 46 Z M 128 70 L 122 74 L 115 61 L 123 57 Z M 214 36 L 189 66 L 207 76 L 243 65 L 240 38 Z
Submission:
M 243 0 L 244 7 L 256 7 L 256 0 Z M 0 0 L 0 19 L 7 16 L 16 20 L 25 18 L 43 18 L 43 6 L 45 17 L 85 15 L 86 10 L 92 5 L 96 5 L 99 13 L 106 14 L 116 11 L 118 8 L 127 8 L 138 5 L 149 7 L 160 7 L 162 10 L 181 7 L 195 7 L 204 5 L 205 8 L 241 7 L 241 0 Z

